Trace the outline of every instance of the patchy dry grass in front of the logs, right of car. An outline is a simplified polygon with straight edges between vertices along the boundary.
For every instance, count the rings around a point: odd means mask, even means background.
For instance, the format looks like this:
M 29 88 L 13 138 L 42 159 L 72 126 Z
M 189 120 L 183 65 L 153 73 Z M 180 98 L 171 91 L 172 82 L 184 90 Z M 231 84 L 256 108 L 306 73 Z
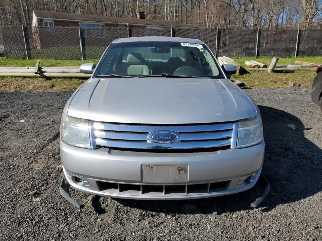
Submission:
M 234 75 L 233 79 L 238 79 L 245 83 L 245 88 L 284 88 L 289 87 L 288 82 L 293 80 L 301 86 L 311 86 L 315 76 L 313 70 L 294 70 L 268 73 L 267 71 L 253 70 L 248 74 Z

